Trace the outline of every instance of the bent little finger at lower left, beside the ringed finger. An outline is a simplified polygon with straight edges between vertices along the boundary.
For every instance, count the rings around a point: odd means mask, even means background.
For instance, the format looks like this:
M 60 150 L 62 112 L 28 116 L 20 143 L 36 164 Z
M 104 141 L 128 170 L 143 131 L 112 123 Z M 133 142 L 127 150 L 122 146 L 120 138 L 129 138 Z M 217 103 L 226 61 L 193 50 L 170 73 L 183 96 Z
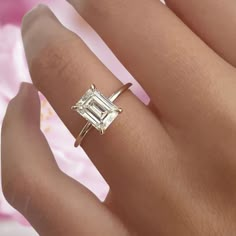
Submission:
M 125 235 L 99 200 L 59 171 L 40 131 L 36 89 L 24 84 L 2 129 L 2 185 L 6 199 L 40 235 Z

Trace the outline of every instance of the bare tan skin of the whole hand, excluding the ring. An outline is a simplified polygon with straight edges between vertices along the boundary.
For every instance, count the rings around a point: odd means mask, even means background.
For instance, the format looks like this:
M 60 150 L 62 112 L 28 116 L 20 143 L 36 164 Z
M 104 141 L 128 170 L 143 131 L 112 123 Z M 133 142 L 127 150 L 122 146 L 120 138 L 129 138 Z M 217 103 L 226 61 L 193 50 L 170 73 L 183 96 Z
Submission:
M 151 103 L 124 93 L 106 134 L 86 136 L 83 148 L 110 186 L 101 203 L 57 167 L 37 90 L 76 137 L 85 122 L 71 105 L 92 83 L 107 96 L 121 83 L 49 8 L 33 9 L 22 36 L 34 86 L 22 84 L 2 127 L 6 199 L 46 236 L 235 235 L 234 0 L 69 2 Z

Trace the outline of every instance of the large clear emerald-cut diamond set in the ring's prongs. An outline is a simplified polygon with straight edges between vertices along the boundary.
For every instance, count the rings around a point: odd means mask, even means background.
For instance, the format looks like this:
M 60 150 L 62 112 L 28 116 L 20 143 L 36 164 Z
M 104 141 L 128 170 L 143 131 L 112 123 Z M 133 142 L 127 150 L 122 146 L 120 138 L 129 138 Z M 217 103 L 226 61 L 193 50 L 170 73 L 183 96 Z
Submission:
M 101 94 L 94 85 L 91 86 L 72 109 L 76 110 L 101 134 L 105 132 L 122 111 Z

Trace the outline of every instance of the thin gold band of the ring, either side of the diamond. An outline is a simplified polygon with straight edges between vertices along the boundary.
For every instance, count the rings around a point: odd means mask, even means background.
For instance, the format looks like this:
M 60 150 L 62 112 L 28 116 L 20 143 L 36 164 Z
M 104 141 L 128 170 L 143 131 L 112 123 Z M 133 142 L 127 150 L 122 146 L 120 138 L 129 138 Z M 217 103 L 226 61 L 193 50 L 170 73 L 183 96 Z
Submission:
M 123 85 L 118 91 L 116 91 L 109 97 L 109 100 L 111 102 L 114 102 L 122 93 L 128 90 L 131 86 L 132 86 L 131 83 Z M 92 124 L 87 122 L 75 140 L 75 144 L 74 144 L 75 147 L 78 147 L 81 145 L 83 139 L 92 128 L 93 128 Z

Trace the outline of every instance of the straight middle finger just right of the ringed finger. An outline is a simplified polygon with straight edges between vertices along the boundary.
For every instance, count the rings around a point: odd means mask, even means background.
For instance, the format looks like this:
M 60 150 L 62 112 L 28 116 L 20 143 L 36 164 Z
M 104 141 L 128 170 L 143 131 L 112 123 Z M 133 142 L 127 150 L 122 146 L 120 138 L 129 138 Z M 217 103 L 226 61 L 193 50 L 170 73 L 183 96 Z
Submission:
M 233 99 L 233 68 L 161 2 L 69 2 L 145 88 L 167 129 L 198 132 L 205 114 L 208 127 L 225 109 L 225 94 Z

